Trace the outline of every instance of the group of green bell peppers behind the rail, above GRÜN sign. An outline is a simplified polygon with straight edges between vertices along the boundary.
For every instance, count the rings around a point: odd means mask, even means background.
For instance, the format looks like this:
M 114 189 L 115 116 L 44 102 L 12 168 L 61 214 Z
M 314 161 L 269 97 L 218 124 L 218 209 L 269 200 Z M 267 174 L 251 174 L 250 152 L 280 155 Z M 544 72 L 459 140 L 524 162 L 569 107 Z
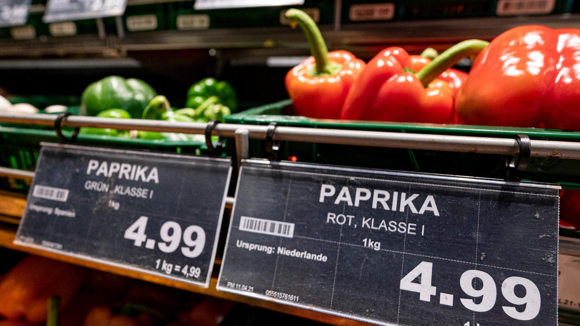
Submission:
M 233 86 L 226 81 L 204 78 L 187 92 L 187 107 L 173 110 L 169 100 L 146 82 L 109 76 L 90 84 L 82 93 L 79 114 L 101 118 L 141 118 L 172 122 L 208 122 L 219 120 L 238 108 Z M 89 135 L 131 137 L 148 140 L 192 142 L 198 135 L 172 132 L 127 132 L 110 128 L 81 128 Z M 202 141 L 202 140 L 201 140 Z

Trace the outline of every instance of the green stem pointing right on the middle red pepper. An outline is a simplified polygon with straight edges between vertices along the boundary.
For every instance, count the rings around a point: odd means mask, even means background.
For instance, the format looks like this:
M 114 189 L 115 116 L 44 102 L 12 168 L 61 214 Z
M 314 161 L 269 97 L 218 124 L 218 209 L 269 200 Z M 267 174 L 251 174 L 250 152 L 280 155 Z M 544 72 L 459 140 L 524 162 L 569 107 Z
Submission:
M 442 74 L 448 68 L 453 67 L 459 60 L 477 55 L 488 44 L 490 42 L 482 41 L 481 39 L 467 39 L 466 41 L 459 42 L 438 55 L 430 64 L 427 64 L 427 66 L 416 73 L 416 76 L 420 79 L 423 86 L 427 87 L 433 79 L 437 78 L 438 75 Z

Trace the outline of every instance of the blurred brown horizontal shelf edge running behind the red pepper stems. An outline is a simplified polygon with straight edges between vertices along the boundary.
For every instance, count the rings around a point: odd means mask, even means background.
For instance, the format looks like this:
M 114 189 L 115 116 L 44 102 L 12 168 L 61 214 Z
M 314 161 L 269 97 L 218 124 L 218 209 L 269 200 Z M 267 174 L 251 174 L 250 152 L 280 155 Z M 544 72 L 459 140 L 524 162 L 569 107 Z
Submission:
M 580 14 L 521 17 L 478 17 L 465 19 L 409 20 L 385 23 L 346 24 L 340 31 L 322 26 L 331 49 L 346 49 L 364 56 L 387 45 L 433 45 L 447 48 L 466 38 L 490 40 L 510 28 L 541 24 L 552 28 L 577 27 Z M 95 55 L 125 56 L 126 52 L 178 49 L 292 49 L 296 55 L 308 53 L 299 29 L 224 28 L 204 31 L 153 31 L 128 33 L 124 38 L 108 35 L 39 37 L 27 41 L 0 40 L 0 57 Z

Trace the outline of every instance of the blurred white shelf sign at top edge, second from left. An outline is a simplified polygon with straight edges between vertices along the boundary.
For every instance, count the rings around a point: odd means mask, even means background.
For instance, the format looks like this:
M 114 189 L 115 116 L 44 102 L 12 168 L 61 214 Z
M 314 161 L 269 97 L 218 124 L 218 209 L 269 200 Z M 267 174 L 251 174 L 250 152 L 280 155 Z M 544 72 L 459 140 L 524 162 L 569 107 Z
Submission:
M 127 0 L 48 0 L 42 21 L 53 23 L 121 16 L 126 6 Z

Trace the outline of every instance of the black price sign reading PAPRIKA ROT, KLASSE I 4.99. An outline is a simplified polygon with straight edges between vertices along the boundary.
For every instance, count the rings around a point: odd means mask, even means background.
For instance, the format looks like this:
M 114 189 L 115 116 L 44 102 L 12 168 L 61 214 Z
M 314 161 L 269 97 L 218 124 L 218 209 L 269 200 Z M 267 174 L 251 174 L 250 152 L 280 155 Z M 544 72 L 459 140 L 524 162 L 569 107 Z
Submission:
M 218 289 L 381 325 L 557 325 L 559 186 L 248 160 Z

